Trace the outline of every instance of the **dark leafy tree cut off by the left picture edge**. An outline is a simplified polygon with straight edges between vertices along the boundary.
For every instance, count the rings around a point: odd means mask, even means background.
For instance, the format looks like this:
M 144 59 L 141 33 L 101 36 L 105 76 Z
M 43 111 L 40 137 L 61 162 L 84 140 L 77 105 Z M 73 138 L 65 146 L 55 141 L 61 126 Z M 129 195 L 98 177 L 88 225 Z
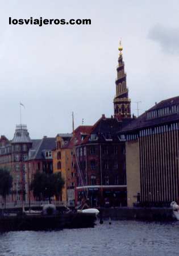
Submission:
M 0 195 L 3 197 L 6 208 L 6 196 L 10 194 L 11 187 L 13 187 L 13 177 L 9 170 L 0 168 Z

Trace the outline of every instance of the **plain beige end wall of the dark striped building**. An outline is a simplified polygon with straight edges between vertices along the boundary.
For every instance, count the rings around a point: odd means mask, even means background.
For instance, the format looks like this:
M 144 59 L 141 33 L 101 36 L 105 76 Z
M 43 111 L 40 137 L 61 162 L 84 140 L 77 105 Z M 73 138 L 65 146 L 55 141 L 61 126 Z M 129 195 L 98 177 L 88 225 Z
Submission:
M 126 142 L 127 206 L 133 207 L 140 193 L 139 141 Z

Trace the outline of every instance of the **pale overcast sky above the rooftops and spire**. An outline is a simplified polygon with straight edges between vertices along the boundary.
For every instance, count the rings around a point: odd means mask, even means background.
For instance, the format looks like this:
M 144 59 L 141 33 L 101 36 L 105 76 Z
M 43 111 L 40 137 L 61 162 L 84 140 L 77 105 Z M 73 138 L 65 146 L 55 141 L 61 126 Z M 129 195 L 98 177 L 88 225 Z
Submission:
M 28 19 L 91 19 L 89 26 L 10 26 Z M 132 113 L 178 96 L 179 1 L 9 1 L 0 10 L 0 134 L 19 121 L 30 137 L 55 137 L 113 114 L 118 44 Z

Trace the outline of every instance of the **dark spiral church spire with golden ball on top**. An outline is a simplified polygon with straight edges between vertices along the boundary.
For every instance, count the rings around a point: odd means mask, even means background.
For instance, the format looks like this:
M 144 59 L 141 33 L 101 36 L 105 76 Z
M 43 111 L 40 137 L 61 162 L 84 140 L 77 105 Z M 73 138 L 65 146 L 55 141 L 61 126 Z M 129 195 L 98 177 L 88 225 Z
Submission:
M 122 59 L 123 47 L 119 43 L 119 58 L 117 78 L 115 80 L 116 96 L 114 98 L 114 117 L 131 118 L 131 100 L 128 98 L 128 88 L 126 86 L 126 73 L 124 72 L 124 62 Z

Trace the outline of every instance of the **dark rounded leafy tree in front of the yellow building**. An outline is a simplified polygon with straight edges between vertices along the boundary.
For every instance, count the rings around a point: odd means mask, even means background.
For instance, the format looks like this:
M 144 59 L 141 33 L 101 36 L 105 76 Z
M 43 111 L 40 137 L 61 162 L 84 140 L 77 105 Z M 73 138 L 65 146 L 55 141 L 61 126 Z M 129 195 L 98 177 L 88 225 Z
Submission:
M 59 196 L 64 184 L 65 182 L 60 172 L 56 174 L 36 172 L 31 183 L 31 189 L 34 197 L 37 197 L 39 200 L 41 200 L 41 197 L 43 197 L 43 199 L 48 198 L 49 203 L 51 203 L 51 197 Z

